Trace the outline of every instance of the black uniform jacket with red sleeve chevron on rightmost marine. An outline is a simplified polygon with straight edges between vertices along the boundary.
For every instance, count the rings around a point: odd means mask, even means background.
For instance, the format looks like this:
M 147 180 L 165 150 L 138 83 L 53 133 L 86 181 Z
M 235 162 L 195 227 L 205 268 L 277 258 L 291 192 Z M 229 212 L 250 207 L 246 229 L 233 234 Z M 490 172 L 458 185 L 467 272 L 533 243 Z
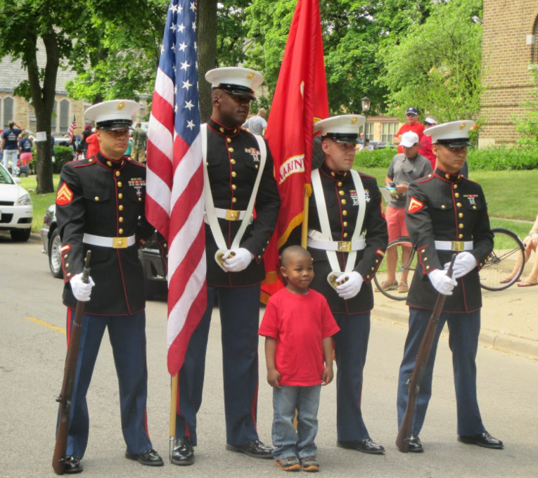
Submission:
M 435 241 L 473 241 L 471 254 L 478 267 L 457 280 L 458 285 L 444 302 L 446 312 L 472 312 L 482 306 L 478 271 L 493 249 L 487 205 L 482 188 L 461 174 L 449 174 L 437 168 L 418 179 L 407 191 L 406 223 L 416 247 L 417 265 L 407 305 L 433 309 L 439 295 L 426 274 L 443 269 L 451 251 L 436 250 Z

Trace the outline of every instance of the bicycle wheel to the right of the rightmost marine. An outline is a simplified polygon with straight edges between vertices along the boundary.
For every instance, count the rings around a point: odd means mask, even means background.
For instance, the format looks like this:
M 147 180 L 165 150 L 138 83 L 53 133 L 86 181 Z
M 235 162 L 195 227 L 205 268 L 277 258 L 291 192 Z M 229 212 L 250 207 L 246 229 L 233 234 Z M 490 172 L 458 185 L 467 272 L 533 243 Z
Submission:
M 480 269 L 480 287 L 504 290 L 517 282 L 525 267 L 525 246 L 518 235 L 505 228 L 492 228 L 493 250 Z M 501 280 L 510 280 L 501 283 Z

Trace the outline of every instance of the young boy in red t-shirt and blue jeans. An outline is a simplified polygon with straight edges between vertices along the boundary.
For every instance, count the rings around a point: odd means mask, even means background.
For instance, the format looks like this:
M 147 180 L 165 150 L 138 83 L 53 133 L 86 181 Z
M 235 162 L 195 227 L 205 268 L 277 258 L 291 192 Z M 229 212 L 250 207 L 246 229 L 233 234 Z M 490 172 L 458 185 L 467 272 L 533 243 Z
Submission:
M 265 337 L 267 382 L 273 387 L 273 458 L 285 471 L 316 472 L 319 395 L 321 385 L 333 380 L 331 337 L 340 328 L 325 297 L 308 288 L 314 278 L 310 253 L 287 247 L 281 264 L 288 285 L 269 299 L 259 332 Z

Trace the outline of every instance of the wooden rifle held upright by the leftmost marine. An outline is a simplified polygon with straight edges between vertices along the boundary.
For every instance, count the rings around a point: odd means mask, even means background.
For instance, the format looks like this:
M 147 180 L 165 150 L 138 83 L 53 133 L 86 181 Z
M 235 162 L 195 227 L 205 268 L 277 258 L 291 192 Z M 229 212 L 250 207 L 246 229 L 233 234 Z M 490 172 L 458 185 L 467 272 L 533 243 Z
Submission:
M 89 283 L 89 261 L 91 251 L 86 254 L 82 282 Z M 71 328 L 71 335 L 68 345 L 68 355 L 65 357 L 65 368 L 63 369 L 63 382 L 60 395 L 56 399 L 58 406 L 58 430 L 56 432 L 56 445 L 52 456 L 52 467 L 56 474 L 65 472 L 65 452 L 68 449 L 69 415 L 71 411 L 71 397 L 75 385 L 75 373 L 77 373 L 77 358 L 79 356 L 80 335 L 82 333 L 82 316 L 84 314 L 84 302 L 77 301 L 75 310 L 75 320 Z

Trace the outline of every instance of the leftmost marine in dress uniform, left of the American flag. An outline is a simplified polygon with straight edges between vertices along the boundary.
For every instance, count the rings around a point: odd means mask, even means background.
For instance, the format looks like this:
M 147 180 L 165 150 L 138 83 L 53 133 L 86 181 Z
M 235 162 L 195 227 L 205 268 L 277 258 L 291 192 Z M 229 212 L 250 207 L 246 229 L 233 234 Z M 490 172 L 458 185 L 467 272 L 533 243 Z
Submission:
M 65 472 L 82 471 L 88 442 L 86 394 L 99 345 L 108 328 L 120 382 L 126 458 L 162 465 L 146 427 L 146 313 L 138 248 L 154 231 L 144 216 L 146 167 L 124 157 L 129 127 L 139 110 L 134 101 L 105 101 L 85 117 L 96 122 L 100 151 L 65 164 L 56 195 L 62 239 L 63 303 L 68 306 L 68 340 L 77 300 L 85 301 L 82 337 Z M 91 250 L 91 280 L 82 282 L 84 257 Z M 91 297 L 90 297 L 91 296 Z

